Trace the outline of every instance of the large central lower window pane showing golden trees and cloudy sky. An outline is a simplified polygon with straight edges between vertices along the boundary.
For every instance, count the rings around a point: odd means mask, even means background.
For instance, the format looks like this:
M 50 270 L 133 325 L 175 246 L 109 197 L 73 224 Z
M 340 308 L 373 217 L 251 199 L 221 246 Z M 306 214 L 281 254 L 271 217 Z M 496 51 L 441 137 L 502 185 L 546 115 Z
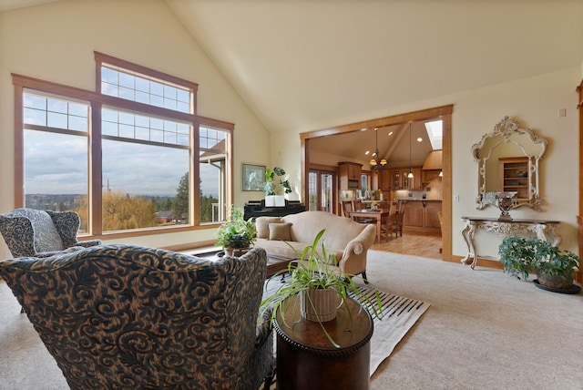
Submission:
M 122 140 L 102 142 L 103 231 L 189 223 L 188 149 Z M 185 174 L 186 185 L 180 188 Z M 186 203 L 179 201 L 181 197 L 186 197 Z M 171 218 L 161 211 L 169 211 Z

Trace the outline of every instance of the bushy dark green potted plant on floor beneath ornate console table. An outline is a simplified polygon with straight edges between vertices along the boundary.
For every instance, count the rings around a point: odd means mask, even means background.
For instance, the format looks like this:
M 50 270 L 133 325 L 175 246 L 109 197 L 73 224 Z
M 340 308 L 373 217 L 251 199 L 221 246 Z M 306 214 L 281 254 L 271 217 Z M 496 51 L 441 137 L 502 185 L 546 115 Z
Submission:
M 538 285 L 557 291 L 569 291 L 578 267 L 578 255 L 560 250 L 549 241 L 537 237 L 506 237 L 498 247 L 504 272 L 528 280 L 528 273 L 537 272 Z

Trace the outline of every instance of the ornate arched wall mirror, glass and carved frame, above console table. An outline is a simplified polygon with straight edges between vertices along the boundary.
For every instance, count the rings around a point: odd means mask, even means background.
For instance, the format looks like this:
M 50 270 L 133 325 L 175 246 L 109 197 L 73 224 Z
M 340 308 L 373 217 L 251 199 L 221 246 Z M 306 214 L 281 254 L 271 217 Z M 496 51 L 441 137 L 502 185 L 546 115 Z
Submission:
M 547 139 L 530 128 L 521 128 L 517 120 L 505 117 L 472 146 L 478 167 L 476 209 L 496 206 L 493 194 L 517 192 L 511 209 L 527 206 L 540 211 L 538 166 L 545 155 Z

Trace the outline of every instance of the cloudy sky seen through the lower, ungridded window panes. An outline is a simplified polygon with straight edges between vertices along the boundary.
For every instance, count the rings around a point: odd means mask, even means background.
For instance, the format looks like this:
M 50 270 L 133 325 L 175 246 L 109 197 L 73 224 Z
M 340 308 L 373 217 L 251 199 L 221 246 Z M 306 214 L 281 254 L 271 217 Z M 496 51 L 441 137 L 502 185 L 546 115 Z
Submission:
M 189 169 L 189 152 L 104 140 L 104 190 L 130 195 L 176 195 Z M 87 193 L 87 138 L 43 131 L 25 133 L 26 193 Z M 219 171 L 200 165 L 203 195 L 217 195 Z

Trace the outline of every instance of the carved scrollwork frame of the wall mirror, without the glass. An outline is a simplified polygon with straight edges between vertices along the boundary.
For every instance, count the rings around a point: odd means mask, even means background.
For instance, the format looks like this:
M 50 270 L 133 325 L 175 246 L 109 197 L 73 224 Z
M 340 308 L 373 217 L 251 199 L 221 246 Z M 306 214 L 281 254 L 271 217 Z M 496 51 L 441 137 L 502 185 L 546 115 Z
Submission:
M 523 144 L 517 142 L 516 138 L 519 136 L 526 135 L 527 138 L 522 141 Z M 514 139 L 513 139 L 513 136 Z M 485 147 L 486 141 L 489 139 L 495 139 L 500 137 L 500 140 L 494 145 L 488 152 L 485 158 L 480 159 L 480 151 Z M 540 152 L 536 155 L 530 155 L 525 149 L 524 142 L 531 142 L 533 145 L 540 147 Z M 527 201 L 513 201 L 511 209 L 517 209 L 518 207 L 526 206 L 531 209 L 541 211 L 540 206 L 542 205 L 542 199 L 540 196 L 540 190 L 538 187 L 538 175 L 539 175 L 539 161 L 545 155 L 547 150 L 547 139 L 543 137 L 538 137 L 533 130 L 530 128 L 521 128 L 517 120 L 510 119 L 507 116 L 501 121 L 496 123 L 494 130 L 491 133 L 486 133 L 480 142 L 472 146 L 472 156 L 477 162 L 478 168 L 478 194 L 476 196 L 476 209 L 482 210 L 486 206 L 495 206 L 491 202 L 486 201 L 486 161 L 490 157 L 492 150 L 496 149 L 498 145 L 505 143 L 514 143 L 522 149 L 524 156 L 529 158 L 529 169 L 528 169 L 528 183 L 529 183 L 529 199 Z

